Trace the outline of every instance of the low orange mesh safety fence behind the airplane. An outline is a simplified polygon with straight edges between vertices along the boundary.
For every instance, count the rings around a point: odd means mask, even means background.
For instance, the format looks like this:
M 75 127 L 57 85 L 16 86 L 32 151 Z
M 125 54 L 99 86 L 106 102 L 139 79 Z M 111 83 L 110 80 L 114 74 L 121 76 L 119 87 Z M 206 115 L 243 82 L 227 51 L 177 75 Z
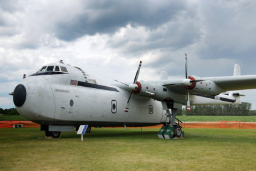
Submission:
M 13 128 L 14 124 L 22 124 L 26 128 L 40 128 L 40 124 L 31 121 L 0 121 L 0 128 Z M 156 126 L 147 126 L 143 128 L 161 128 L 163 124 Z M 216 122 L 183 122 L 180 123 L 182 128 L 235 128 L 235 129 L 256 129 L 256 122 L 240 121 L 216 121 Z M 124 128 L 124 127 L 122 127 Z M 129 128 L 140 128 L 129 127 Z

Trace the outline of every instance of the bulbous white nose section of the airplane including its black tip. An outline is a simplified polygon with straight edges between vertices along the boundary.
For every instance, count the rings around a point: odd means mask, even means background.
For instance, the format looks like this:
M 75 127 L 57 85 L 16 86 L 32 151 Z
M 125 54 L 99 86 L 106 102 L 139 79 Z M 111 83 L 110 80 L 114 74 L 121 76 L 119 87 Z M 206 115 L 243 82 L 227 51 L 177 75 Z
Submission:
M 20 115 L 35 123 L 54 118 L 52 88 L 44 76 L 27 77 L 13 91 L 13 103 Z

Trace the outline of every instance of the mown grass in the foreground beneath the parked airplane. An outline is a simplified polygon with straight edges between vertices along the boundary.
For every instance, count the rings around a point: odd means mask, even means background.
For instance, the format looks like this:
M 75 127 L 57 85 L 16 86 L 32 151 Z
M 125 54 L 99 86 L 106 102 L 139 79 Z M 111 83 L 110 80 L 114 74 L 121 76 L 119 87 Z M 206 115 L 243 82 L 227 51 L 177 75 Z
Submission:
M 184 129 L 162 140 L 158 129 L 93 128 L 42 138 L 38 128 L 0 129 L 0 170 L 255 170 L 256 130 Z

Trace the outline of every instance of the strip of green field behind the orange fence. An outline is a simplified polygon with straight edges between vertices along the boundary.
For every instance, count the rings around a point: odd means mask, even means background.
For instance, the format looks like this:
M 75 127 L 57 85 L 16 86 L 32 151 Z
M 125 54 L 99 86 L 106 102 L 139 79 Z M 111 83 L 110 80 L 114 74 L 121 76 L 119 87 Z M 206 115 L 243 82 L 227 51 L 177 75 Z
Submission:
M 180 121 L 243 121 L 243 122 L 256 122 L 256 115 L 254 116 L 215 116 L 215 115 L 178 115 Z M 20 115 L 0 115 L 0 121 L 28 121 Z

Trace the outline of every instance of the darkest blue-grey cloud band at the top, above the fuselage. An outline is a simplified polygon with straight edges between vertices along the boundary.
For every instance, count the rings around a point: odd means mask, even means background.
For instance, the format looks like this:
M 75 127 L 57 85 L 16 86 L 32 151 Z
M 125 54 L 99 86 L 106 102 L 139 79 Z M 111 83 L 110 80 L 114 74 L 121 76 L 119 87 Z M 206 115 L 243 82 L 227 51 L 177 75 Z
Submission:
M 180 1 L 89 1 L 83 12 L 59 22 L 55 34 L 72 41 L 85 34 L 115 33 L 127 24 L 156 29 L 182 9 Z

